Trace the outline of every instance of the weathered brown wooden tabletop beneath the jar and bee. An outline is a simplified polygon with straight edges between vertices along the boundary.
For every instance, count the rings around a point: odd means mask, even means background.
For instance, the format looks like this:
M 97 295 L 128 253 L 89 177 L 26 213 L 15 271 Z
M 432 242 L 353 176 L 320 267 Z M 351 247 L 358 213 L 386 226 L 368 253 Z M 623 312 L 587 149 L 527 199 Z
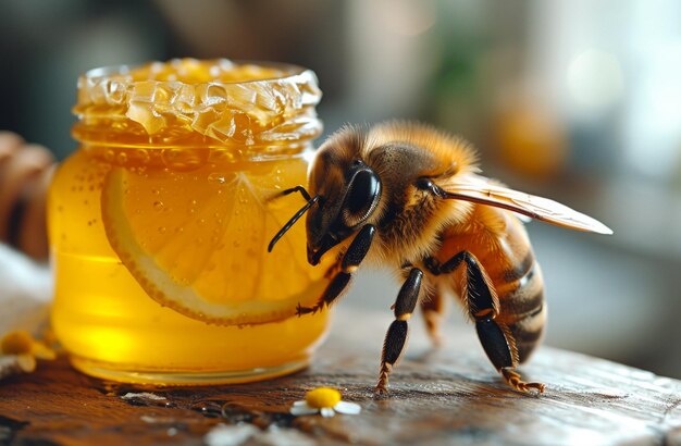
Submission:
M 0 382 L 0 444 L 681 445 L 681 382 L 543 347 L 522 373 L 546 392 L 522 395 L 498 379 L 471 326 L 450 325 L 434 350 L 414 321 L 391 396 L 376 399 L 391 312 L 340 306 L 335 319 L 308 370 L 253 384 L 143 387 L 82 375 L 65 358 L 41 362 Z M 288 413 L 321 385 L 361 414 Z

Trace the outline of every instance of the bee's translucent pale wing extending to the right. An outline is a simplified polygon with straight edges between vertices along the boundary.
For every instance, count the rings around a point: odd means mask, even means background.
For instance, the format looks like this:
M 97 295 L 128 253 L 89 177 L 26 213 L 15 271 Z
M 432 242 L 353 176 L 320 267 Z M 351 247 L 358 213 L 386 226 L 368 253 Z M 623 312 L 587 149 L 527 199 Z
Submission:
M 512 190 L 491 179 L 470 175 L 447 187 L 447 198 L 508 209 L 535 220 L 572 230 L 612 234 L 605 224 L 548 198 Z

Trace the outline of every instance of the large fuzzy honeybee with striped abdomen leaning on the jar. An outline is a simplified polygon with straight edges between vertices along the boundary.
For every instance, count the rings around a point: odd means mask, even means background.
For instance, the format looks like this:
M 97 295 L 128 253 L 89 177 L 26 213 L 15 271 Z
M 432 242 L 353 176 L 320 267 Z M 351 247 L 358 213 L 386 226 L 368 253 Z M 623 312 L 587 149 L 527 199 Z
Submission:
M 611 234 L 600 222 L 556 201 L 511 190 L 479 174 L 462 138 L 418 123 L 347 126 L 319 149 L 307 203 L 282 227 L 269 250 L 307 212 L 308 261 L 337 247 L 330 283 L 314 313 L 343 295 L 362 261 L 395 268 L 404 283 L 385 336 L 377 394 L 405 347 L 417 305 L 439 340 L 443 294 L 457 296 L 490 361 L 512 388 L 544 392 L 517 367 L 538 345 L 546 319 L 544 282 L 518 214 L 573 230 Z

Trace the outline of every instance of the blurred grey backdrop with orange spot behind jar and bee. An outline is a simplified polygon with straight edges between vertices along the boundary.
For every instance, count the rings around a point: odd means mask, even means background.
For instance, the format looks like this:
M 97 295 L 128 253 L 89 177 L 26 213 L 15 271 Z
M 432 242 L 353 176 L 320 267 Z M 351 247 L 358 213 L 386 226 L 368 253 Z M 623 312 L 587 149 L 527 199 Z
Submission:
M 546 344 L 681 379 L 679 24 L 673 0 L 3 1 L 0 129 L 63 159 L 76 77 L 95 66 L 308 66 L 326 133 L 428 121 L 470 139 L 487 176 L 612 227 L 529 224 Z M 396 292 L 389 274 L 364 273 L 344 305 L 388 311 Z

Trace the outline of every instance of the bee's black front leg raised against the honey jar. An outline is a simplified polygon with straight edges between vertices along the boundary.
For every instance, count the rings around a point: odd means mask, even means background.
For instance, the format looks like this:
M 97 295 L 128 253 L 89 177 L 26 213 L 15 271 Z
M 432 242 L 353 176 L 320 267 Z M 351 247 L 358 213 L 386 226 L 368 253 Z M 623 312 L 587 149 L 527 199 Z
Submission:
M 359 231 L 343 256 L 340 268 L 332 269 L 333 276 L 331 282 L 326 285 L 324 293 L 317 303 L 313 307 L 301 307 L 300 303 L 298 303 L 298 308 L 296 309 L 298 315 L 308 313 L 314 314 L 324 307 L 331 306 L 334 300 L 343 294 L 350 283 L 350 278 L 352 278 L 352 273 L 357 271 L 359 264 L 364 260 L 367 252 L 369 252 L 375 232 L 376 230 L 372 224 L 368 224 Z

